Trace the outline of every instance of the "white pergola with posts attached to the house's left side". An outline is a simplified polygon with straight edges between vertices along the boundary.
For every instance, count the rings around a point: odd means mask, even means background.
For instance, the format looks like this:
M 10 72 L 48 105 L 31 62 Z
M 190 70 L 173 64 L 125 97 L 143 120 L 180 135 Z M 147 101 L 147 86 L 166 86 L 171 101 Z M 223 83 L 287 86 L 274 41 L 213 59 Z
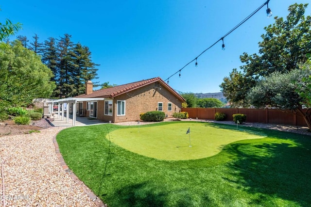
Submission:
M 60 115 L 60 108 L 62 108 L 62 121 L 64 120 L 64 103 L 67 104 L 67 111 L 66 111 L 66 123 L 69 123 L 69 104 L 72 103 L 72 126 L 76 126 L 76 104 L 77 102 L 83 101 L 102 101 L 104 98 L 62 98 L 62 99 L 55 99 L 48 102 L 49 105 L 49 113 L 53 112 L 53 105 L 54 103 L 58 103 L 58 117 Z M 61 107 L 60 107 L 61 106 Z

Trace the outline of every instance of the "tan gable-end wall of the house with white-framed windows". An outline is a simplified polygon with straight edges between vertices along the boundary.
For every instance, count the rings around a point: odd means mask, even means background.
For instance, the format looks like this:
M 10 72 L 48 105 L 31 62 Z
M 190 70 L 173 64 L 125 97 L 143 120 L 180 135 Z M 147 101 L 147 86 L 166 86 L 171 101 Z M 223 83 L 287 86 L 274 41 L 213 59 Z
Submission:
M 117 115 L 117 100 L 125 100 L 125 115 Z M 181 101 L 164 86 L 161 90 L 156 83 L 146 85 L 126 94 L 116 96 L 113 101 L 113 122 L 137 121 L 139 114 L 147 111 L 158 111 L 158 102 L 163 103 L 163 112 L 172 117 L 173 112 L 181 111 Z M 172 111 L 168 111 L 168 103 L 172 103 Z

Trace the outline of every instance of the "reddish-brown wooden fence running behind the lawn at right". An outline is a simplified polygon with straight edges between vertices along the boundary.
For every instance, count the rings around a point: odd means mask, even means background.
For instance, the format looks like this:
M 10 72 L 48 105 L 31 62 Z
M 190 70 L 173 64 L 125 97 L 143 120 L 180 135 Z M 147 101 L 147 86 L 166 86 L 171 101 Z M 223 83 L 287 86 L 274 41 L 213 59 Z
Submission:
M 182 108 L 187 111 L 192 119 L 215 119 L 216 112 L 226 115 L 225 121 L 232 121 L 232 115 L 242 113 L 246 115 L 246 122 L 284 124 L 294 126 L 307 126 L 303 117 L 291 113 L 291 111 L 280 111 L 278 109 L 239 109 L 239 108 Z

